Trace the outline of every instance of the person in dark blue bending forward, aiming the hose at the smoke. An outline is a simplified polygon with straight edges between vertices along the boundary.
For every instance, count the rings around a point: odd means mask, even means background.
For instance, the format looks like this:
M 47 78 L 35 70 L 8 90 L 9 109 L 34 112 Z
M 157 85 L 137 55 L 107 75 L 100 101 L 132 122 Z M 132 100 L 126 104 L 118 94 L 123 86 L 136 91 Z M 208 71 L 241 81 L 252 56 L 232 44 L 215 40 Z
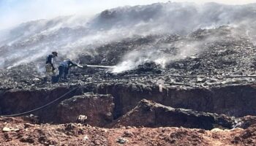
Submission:
M 69 69 L 72 66 L 78 66 L 80 68 L 83 68 L 83 66 L 80 66 L 78 64 L 73 63 L 69 58 L 66 58 L 61 64 L 59 65 L 59 74 L 56 76 L 55 81 L 59 82 L 59 79 L 63 77 L 64 80 L 67 80 L 67 74 L 69 73 Z M 54 82 L 54 81 L 53 81 Z

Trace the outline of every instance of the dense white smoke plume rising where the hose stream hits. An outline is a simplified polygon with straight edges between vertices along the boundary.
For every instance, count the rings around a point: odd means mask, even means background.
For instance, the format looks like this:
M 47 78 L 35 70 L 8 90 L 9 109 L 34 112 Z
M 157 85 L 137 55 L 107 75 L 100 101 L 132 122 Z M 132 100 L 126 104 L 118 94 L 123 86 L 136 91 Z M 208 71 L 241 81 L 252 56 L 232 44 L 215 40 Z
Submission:
M 155 62 L 165 68 L 172 61 L 182 60 L 189 56 L 201 53 L 205 43 L 214 42 L 215 37 L 208 37 L 202 41 L 176 41 L 172 43 L 159 43 L 159 40 L 154 44 L 149 44 L 143 47 L 138 47 L 135 50 L 127 53 L 120 64 L 117 64 L 112 72 L 124 72 L 130 69 L 135 69 L 140 64 L 146 62 Z

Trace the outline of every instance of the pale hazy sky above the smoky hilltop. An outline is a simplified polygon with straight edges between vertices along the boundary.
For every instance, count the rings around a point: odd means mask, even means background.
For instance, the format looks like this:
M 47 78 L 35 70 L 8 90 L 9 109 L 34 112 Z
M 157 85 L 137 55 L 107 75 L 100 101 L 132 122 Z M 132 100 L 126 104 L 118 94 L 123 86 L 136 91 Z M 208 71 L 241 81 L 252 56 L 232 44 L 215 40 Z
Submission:
M 151 4 L 168 0 L 0 0 L 0 29 L 29 20 L 54 18 L 59 15 L 93 15 L 104 9 L 125 5 Z M 256 0 L 173 0 L 225 4 L 256 3 Z

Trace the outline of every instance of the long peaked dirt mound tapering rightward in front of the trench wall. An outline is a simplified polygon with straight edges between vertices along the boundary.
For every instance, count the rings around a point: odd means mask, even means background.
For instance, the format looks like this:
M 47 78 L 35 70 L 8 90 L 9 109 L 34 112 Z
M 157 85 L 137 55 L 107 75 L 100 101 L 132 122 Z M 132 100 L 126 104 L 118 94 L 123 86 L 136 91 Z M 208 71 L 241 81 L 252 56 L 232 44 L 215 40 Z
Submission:
M 137 107 L 117 120 L 115 127 L 232 128 L 235 118 L 193 110 L 175 109 L 143 99 Z

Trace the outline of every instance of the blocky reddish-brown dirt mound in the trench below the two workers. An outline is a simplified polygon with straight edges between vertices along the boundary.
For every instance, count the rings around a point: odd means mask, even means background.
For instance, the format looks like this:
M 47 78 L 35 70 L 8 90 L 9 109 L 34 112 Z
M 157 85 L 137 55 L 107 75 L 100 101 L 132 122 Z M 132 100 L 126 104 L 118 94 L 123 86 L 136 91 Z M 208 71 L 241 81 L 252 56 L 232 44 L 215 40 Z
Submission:
M 86 115 L 94 126 L 105 126 L 113 121 L 113 96 L 85 94 L 61 101 L 58 107 L 59 123 L 77 122 L 79 115 Z

